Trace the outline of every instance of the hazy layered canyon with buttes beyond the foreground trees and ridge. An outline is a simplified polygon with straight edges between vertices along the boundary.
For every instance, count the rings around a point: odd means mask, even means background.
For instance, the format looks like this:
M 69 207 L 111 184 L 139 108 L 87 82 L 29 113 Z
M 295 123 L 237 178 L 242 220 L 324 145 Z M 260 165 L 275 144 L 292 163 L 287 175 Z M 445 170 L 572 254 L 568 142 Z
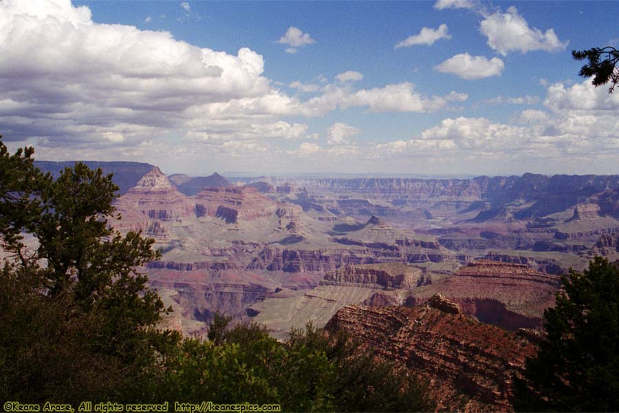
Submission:
M 540 329 L 560 275 L 619 258 L 619 176 L 226 179 L 89 165 L 120 187 L 110 224 L 162 251 L 144 270 L 186 334 L 219 311 L 285 339 L 349 304 L 412 307 L 437 293 L 471 319 Z

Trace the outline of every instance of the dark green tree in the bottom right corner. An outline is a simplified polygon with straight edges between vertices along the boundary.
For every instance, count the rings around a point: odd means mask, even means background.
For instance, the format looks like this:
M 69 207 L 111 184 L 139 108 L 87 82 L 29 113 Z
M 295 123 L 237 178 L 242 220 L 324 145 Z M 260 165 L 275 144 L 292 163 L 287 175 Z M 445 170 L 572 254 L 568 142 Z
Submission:
M 569 271 L 555 308 L 544 312 L 547 338 L 527 362 L 519 410 L 619 410 L 619 269 L 596 257 Z

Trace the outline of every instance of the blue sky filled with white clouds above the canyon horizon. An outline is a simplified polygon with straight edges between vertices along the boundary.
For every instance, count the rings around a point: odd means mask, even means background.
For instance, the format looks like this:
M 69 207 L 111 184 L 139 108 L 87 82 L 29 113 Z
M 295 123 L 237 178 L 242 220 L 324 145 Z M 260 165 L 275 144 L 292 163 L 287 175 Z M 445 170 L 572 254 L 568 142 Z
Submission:
M 617 1 L 0 0 L 0 134 L 165 173 L 619 173 Z

